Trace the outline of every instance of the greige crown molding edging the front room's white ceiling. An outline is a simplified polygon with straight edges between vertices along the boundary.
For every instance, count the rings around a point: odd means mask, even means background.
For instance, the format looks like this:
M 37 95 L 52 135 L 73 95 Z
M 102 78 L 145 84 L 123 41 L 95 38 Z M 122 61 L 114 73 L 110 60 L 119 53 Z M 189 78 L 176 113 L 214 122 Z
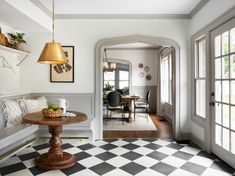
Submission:
M 39 0 L 30 0 L 49 17 L 52 12 Z M 189 14 L 55 14 L 55 19 L 191 19 L 209 0 L 201 0 Z

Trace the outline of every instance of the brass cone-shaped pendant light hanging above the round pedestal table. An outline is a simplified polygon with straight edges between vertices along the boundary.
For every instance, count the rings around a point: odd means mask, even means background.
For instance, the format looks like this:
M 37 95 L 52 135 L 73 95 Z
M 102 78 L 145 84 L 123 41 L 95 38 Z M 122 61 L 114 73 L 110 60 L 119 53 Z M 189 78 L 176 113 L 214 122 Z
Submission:
M 52 0 L 52 42 L 47 42 L 42 50 L 42 53 L 38 59 L 38 63 L 41 64 L 66 64 L 68 59 L 66 59 L 64 51 L 58 42 L 54 42 L 54 24 L 55 20 L 55 5 L 54 0 Z

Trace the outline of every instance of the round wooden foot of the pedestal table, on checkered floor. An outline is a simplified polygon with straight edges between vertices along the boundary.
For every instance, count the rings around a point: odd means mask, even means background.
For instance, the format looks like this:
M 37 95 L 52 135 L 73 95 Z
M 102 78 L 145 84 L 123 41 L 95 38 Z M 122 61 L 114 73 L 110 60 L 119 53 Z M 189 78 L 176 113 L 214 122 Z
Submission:
M 48 153 L 44 153 L 35 159 L 35 165 L 41 169 L 65 169 L 76 163 L 72 154 L 63 152 L 62 158 L 48 158 Z

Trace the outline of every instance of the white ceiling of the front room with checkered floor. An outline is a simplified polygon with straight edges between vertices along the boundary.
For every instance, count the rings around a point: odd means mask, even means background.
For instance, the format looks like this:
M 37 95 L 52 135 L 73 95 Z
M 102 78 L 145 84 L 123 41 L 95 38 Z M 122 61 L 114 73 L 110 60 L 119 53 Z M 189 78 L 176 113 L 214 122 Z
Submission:
M 52 0 L 37 1 L 51 10 Z M 201 0 L 55 0 L 55 13 L 190 14 L 200 2 Z

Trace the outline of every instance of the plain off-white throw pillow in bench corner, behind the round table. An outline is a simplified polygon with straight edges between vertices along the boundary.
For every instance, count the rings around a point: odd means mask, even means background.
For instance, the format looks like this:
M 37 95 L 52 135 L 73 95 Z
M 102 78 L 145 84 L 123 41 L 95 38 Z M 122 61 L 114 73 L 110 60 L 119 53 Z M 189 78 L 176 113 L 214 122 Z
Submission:
M 48 107 L 47 100 L 44 96 L 37 99 L 24 99 L 24 103 L 27 113 L 38 112 Z

